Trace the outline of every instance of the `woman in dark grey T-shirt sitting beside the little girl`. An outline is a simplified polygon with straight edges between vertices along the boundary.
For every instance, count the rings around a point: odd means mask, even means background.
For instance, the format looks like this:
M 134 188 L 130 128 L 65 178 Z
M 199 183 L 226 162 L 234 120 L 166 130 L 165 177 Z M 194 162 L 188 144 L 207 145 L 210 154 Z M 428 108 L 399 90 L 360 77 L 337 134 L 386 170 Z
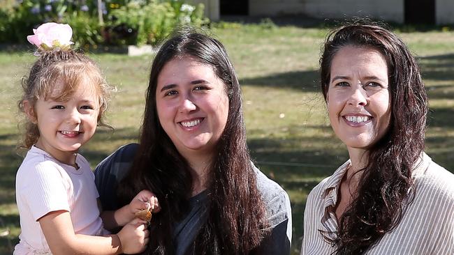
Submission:
M 145 254 L 289 254 L 288 195 L 251 163 L 240 84 L 214 38 L 182 32 L 161 46 L 139 144 L 95 174 L 105 210 L 156 194 Z

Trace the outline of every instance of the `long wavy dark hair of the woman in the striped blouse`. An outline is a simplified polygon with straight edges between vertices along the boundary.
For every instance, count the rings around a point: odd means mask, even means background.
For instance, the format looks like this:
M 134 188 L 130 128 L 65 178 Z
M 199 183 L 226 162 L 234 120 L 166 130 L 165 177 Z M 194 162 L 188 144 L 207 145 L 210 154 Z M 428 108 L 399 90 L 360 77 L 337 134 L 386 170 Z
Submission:
M 427 95 L 418 64 L 405 43 L 388 29 L 356 22 L 328 34 L 320 59 L 326 100 L 334 56 L 346 46 L 376 49 L 388 65 L 391 118 L 388 132 L 369 149 L 357 194 L 339 221 L 335 254 L 363 254 L 402 219 L 411 203 L 412 169 L 423 153 Z M 409 191 L 413 192 L 409 192 Z

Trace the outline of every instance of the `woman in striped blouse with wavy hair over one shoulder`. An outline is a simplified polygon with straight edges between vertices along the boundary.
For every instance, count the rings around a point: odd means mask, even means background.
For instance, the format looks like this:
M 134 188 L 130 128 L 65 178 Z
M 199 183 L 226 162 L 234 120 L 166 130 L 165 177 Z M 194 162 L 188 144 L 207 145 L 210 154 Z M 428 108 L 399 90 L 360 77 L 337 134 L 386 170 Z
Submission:
M 424 152 L 427 95 L 376 24 L 328 34 L 321 89 L 350 160 L 307 198 L 301 254 L 454 254 L 454 175 Z

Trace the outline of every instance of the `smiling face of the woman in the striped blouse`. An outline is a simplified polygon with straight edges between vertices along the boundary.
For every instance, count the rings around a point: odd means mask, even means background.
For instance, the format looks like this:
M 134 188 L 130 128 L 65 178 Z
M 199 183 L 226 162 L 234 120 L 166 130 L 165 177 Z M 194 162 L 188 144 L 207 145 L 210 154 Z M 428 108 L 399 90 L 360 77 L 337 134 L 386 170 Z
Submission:
M 383 55 L 369 47 L 345 46 L 332 59 L 328 115 L 337 137 L 367 150 L 388 130 L 390 93 Z

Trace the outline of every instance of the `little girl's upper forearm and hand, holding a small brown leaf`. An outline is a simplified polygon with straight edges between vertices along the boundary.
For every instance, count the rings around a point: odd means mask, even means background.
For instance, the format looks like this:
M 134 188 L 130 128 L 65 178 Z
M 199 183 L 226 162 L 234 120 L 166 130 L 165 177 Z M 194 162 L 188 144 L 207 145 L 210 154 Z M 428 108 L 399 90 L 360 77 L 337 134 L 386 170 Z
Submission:
M 160 210 L 158 199 L 148 190 L 142 190 L 131 200 L 131 203 L 118 210 L 103 211 L 99 201 L 98 207 L 100 207 L 100 217 L 103 219 L 104 227 L 108 230 L 115 229 L 118 226 L 124 226 L 126 223 L 131 222 L 135 217 L 135 213 L 140 210 L 147 208 L 151 208 L 152 212 L 159 212 Z

